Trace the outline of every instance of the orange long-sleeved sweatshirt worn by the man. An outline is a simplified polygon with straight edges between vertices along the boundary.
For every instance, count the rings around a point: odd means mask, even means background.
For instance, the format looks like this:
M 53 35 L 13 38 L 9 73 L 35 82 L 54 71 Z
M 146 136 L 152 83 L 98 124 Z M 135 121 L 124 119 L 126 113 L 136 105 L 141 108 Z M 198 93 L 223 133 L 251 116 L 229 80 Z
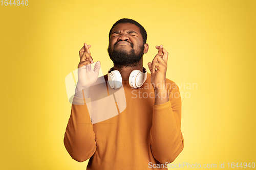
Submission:
M 91 112 L 96 106 L 89 108 L 88 99 L 74 96 L 64 137 L 73 159 L 82 162 L 90 158 L 87 169 L 167 169 L 166 165 L 176 159 L 184 146 L 180 92 L 173 81 L 166 79 L 169 101 L 154 105 L 150 78 L 147 73 L 145 83 L 137 89 L 123 81 L 126 108 L 120 109 L 116 99 L 118 113 L 93 124 L 100 119 Z M 107 95 L 111 95 L 112 89 L 107 89 Z M 107 112 L 109 106 L 102 103 L 97 109 Z

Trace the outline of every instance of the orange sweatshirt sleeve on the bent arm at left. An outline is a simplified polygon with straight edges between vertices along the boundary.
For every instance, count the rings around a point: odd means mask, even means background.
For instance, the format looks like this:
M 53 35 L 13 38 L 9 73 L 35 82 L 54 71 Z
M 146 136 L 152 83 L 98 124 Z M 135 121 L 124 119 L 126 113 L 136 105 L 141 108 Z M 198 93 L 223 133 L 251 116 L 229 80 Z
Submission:
M 89 159 L 97 149 L 88 106 L 76 96 L 73 99 L 64 145 L 70 156 L 78 162 Z

